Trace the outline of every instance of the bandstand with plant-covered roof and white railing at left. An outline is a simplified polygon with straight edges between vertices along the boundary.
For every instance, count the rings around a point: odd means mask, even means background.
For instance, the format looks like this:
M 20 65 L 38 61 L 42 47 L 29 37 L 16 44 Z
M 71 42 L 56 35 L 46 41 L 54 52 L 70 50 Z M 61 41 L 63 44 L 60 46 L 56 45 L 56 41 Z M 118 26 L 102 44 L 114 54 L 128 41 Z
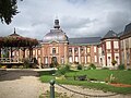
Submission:
M 25 59 L 25 50 L 29 50 L 28 59 L 33 59 L 33 48 L 38 45 L 37 39 L 22 37 L 16 34 L 15 28 L 14 33 L 5 36 L 0 37 L 0 64 L 1 65 L 20 65 L 23 64 L 23 59 Z M 3 51 L 7 50 L 9 54 L 3 56 Z M 23 54 L 17 57 L 13 57 L 12 52 L 22 51 Z

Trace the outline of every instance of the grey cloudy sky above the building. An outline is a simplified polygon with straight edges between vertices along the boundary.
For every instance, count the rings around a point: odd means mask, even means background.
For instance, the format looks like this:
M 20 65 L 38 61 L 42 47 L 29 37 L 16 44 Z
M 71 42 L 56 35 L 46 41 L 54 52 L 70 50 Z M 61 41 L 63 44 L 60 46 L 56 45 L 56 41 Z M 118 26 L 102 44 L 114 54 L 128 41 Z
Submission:
M 37 39 L 60 20 L 69 37 L 103 37 L 109 29 L 120 33 L 131 23 L 131 0 L 17 0 L 20 13 L 10 25 L 0 22 L 0 36 L 16 33 Z

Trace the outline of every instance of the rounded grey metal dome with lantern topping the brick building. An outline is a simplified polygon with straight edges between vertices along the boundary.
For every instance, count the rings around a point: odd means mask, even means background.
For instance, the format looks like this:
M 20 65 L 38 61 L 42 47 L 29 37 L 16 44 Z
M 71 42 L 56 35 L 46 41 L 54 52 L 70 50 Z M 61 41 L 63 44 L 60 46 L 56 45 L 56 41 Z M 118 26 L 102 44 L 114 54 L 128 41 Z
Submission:
M 60 28 L 59 20 L 55 20 L 53 29 L 50 29 L 50 33 L 44 36 L 43 42 L 68 41 L 68 36 L 66 35 L 66 33 L 62 32 L 62 29 L 59 29 L 59 28 Z

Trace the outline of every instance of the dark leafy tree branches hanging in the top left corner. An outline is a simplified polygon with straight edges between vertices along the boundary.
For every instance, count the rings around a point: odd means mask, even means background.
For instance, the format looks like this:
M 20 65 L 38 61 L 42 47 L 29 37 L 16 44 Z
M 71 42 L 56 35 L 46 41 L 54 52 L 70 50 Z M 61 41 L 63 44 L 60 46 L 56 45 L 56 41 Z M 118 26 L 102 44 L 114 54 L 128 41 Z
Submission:
M 22 0 L 21 0 L 22 1 Z M 0 19 L 8 25 L 12 22 L 17 12 L 17 0 L 0 0 Z

